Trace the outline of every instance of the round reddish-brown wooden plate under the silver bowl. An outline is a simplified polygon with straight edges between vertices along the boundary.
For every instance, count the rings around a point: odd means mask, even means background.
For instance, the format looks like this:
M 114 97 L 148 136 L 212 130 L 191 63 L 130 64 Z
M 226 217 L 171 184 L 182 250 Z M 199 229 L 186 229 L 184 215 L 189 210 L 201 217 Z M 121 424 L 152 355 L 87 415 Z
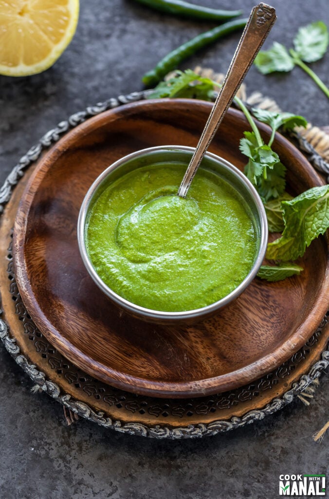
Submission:
M 89 278 L 76 242 L 80 204 L 113 161 L 149 146 L 195 146 L 211 104 L 141 101 L 89 119 L 40 160 L 22 195 L 13 257 L 17 285 L 38 328 L 87 373 L 128 391 L 195 397 L 242 386 L 286 361 L 314 333 L 328 308 L 327 241 L 307 250 L 301 276 L 255 279 L 231 305 L 196 326 L 155 326 L 113 305 Z M 248 125 L 229 110 L 211 148 L 239 168 Z M 264 136 L 269 129 L 260 124 Z M 293 194 L 321 180 L 277 135 Z

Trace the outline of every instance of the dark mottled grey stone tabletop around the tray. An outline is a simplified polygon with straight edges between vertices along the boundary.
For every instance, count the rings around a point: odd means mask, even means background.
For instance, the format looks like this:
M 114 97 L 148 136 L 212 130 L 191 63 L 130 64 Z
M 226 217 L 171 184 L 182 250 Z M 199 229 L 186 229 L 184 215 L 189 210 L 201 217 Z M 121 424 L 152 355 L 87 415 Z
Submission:
M 203 0 L 239 8 L 251 0 Z M 268 47 L 291 46 L 298 27 L 323 19 L 328 0 L 273 0 L 278 21 Z M 212 26 L 212 24 L 210 24 Z M 20 156 L 48 129 L 74 111 L 120 93 L 142 89 L 141 76 L 205 22 L 178 20 L 133 0 L 81 1 L 76 35 L 56 64 L 26 78 L 0 76 L 0 184 Z M 197 64 L 225 72 L 239 35 L 194 55 Z M 329 54 L 312 65 L 328 84 Z M 282 109 L 329 124 L 328 99 L 302 70 L 262 76 L 252 67 L 248 91 L 261 90 Z M 121 435 L 81 420 L 66 426 L 62 407 L 32 382 L 0 346 L 0 498 L 146 499 L 279 496 L 279 475 L 324 473 L 326 441 L 312 435 L 328 420 L 328 377 L 309 407 L 296 400 L 246 428 L 197 441 L 156 441 Z

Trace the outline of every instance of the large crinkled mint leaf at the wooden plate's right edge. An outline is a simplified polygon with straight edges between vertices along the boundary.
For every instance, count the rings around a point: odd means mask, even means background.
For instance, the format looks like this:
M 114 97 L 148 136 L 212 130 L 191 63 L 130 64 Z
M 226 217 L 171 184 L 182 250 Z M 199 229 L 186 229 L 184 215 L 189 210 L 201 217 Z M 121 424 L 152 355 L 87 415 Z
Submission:
M 267 247 L 271 260 L 296 260 L 311 242 L 329 228 L 329 185 L 313 187 L 291 201 L 282 202 L 285 229 Z

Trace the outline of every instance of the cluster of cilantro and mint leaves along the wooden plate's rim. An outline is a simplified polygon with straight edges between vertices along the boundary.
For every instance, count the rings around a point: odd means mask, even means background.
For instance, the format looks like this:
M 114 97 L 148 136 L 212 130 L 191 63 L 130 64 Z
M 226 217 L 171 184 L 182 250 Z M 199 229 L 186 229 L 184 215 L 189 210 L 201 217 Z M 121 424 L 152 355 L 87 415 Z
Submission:
M 176 71 L 174 76 L 161 82 L 147 97 L 212 100 L 214 88 L 220 86 L 210 78 L 201 77 L 187 69 L 184 72 Z M 303 268 L 292 260 L 302 256 L 311 242 L 329 228 L 329 186 L 309 189 L 293 199 L 285 192 L 286 167 L 272 150 L 272 144 L 278 129 L 289 131 L 295 126 L 305 127 L 307 121 L 302 116 L 290 113 L 253 108 L 252 114 L 272 129 L 270 139 L 265 143 L 251 112 L 238 97 L 234 101 L 251 127 L 251 131 L 244 132 L 244 137 L 240 139 L 240 151 L 248 158 L 245 174 L 263 200 L 269 231 L 282 232 L 282 236 L 267 248 L 266 256 L 272 263 L 262 265 L 257 275 L 272 282 L 299 275 Z

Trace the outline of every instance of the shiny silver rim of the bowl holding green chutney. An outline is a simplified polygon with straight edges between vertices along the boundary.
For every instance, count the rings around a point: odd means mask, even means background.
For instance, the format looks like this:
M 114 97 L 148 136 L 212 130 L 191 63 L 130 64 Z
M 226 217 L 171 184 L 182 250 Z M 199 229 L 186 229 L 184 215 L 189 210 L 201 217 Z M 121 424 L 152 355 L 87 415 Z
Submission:
M 249 181 L 249 179 L 237 168 L 235 167 L 232 163 L 229 161 L 225 160 L 224 158 L 221 158 L 220 156 L 206 152 L 204 155 L 205 158 L 208 158 L 210 160 L 215 160 L 217 163 L 219 162 L 222 166 L 224 166 L 225 169 L 232 171 L 235 176 L 239 179 L 240 183 L 244 184 L 244 186 L 247 188 L 247 190 L 251 193 L 254 201 L 255 201 L 255 206 L 258 211 L 258 216 L 259 216 L 259 231 L 260 231 L 260 237 L 259 237 L 259 250 L 257 253 L 257 256 L 255 258 L 254 264 L 251 268 L 251 270 L 248 272 L 246 277 L 243 279 L 243 281 L 233 289 L 229 294 L 224 296 L 223 298 L 215 301 L 214 303 L 211 303 L 210 305 L 206 305 L 205 307 L 201 308 L 195 308 L 192 310 L 185 310 L 185 311 L 179 311 L 179 312 L 167 312 L 167 311 L 161 311 L 161 310 L 154 310 L 151 308 L 146 308 L 141 305 L 137 305 L 126 298 L 123 298 L 119 294 L 117 294 L 115 291 L 113 291 L 105 282 L 100 278 L 98 273 L 96 272 L 93 264 L 91 263 L 91 260 L 88 256 L 88 252 L 86 249 L 86 244 L 85 244 L 85 226 L 86 226 L 86 218 L 88 214 L 88 209 L 90 206 L 90 203 L 94 197 L 94 194 L 97 192 L 97 190 L 101 187 L 103 182 L 106 181 L 107 177 L 109 174 L 111 174 L 115 169 L 119 168 L 120 166 L 124 165 L 128 161 L 134 160 L 139 157 L 146 156 L 150 153 L 154 152 L 168 152 L 168 151 L 183 151 L 183 152 L 188 152 L 188 153 L 193 153 L 195 150 L 194 147 L 189 147 L 189 146 L 180 146 L 180 145 L 165 145 L 165 146 L 155 146 L 155 147 L 149 147 L 145 149 L 140 149 L 138 151 L 135 151 L 133 153 L 130 153 L 126 156 L 123 156 L 119 160 L 115 161 L 112 163 L 110 166 L 108 166 L 97 178 L 96 180 L 92 183 L 90 188 L 88 189 L 83 202 L 80 207 L 79 211 L 79 216 L 78 216 L 78 222 L 77 222 L 77 241 L 78 241 L 78 248 L 79 252 L 82 258 L 82 261 L 85 265 L 85 268 L 87 269 L 89 275 L 92 277 L 94 282 L 98 285 L 98 287 L 109 297 L 111 298 L 116 304 L 124 307 L 126 310 L 128 310 L 130 313 L 137 314 L 139 317 L 144 318 L 144 319 L 149 319 L 149 320 L 159 320 L 161 322 L 164 321 L 183 321 L 183 320 L 198 320 L 202 319 L 204 316 L 211 315 L 213 312 L 217 311 L 218 309 L 224 307 L 231 301 L 233 301 L 235 298 L 237 298 L 245 289 L 246 287 L 251 283 L 251 281 L 254 279 L 256 276 L 259 267 L 261 266 L 263 259 L 265 257 L 266 253 L 266 248 L 267 248 L 267 242 L 268 242 L 268 224 L 267 224 L 267 217 L 266 217 L 266 212 L 265 208 L 263 205 L 263 202 L 261 201 L 261 198 L 256 191 L 255 187 L 252 185 L 252 183 Z

